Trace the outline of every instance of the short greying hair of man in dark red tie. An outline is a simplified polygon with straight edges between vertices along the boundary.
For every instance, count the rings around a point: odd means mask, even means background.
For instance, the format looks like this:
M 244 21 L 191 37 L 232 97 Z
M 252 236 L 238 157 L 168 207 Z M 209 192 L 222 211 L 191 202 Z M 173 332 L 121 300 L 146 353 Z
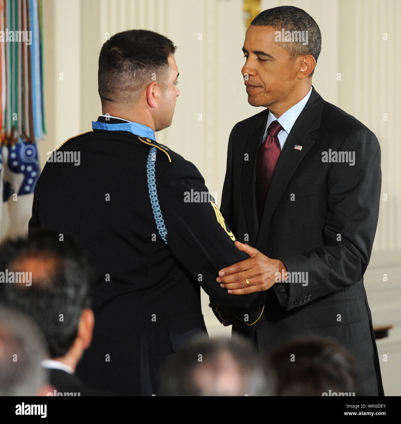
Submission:
M 321 33 L 315 20 L 305 12 L 295 6 L 278 6 L 264 10 L 251 22 L 255 26 L 271 26 L 277 31 L 282 28 L 285 31 L 308 31 L 308 43 L 303 45 L 301 42 L 283 42 L 279 44 L 286 48 L 290 58 L 294 60 L 298 56 L 312 55 L 316 62 L 321 50 Z M 313 70 L 309 76 L 312 76 Z

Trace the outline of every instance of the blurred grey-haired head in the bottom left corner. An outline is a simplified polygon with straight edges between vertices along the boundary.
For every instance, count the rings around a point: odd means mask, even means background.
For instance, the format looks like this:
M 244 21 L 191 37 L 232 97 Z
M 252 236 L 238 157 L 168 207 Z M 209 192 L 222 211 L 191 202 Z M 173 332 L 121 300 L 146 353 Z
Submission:
M 0 305 L 0 396 L 46 396 L 46 341 L 36 323 Z

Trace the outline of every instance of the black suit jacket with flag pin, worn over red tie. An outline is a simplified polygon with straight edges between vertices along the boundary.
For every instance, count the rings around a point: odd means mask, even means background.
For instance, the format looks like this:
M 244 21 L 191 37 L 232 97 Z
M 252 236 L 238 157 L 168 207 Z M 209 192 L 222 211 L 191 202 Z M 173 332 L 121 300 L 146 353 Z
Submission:
M 379 214 L 379 142 L 313 88 L 277 161 L 259 228 L 255 170 L 268 113 L 231 131 L 220 210 L 240 241 L 280 259 L 288 272 L 308 273 L 308 285 L 267 290 L 264 316 L 256 324 L 258 347 L 270 351 L 301 336 L 333 338 L 357 360 L 358 393 L 383 394 L 363 286 Z M 322 162 L 329 149 L 354 152 L 354 166 Z

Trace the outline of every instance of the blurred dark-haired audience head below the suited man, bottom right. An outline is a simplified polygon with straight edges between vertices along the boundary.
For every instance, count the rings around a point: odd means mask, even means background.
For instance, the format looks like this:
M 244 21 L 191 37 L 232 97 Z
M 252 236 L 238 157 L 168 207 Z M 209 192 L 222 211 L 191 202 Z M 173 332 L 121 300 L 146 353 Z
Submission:
M 355 392 L 354 361 L 345 348 L 332 340 L 294 340 L 270 352 L 268 359 L 278 376 L 276 396 L 338 396 Z

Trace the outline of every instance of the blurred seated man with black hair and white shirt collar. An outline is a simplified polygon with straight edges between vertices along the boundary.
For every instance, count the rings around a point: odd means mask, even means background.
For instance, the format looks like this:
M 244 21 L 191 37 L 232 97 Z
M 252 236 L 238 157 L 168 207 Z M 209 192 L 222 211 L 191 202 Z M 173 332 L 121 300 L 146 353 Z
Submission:
M 2 284 L 1 299 L 32 317 L 41 329 L 49 346 L 42 366 L 49 369 L 49 383 L 55 388 L 49 393 L 100 395 L 74 374 L 91 344 L 94 324 L 85 252 L 68 237 L 60 240 L 58 233 L 39 231 L 3 243 L 0 270 L 7 276 L 25 275 L 25 281 Z

